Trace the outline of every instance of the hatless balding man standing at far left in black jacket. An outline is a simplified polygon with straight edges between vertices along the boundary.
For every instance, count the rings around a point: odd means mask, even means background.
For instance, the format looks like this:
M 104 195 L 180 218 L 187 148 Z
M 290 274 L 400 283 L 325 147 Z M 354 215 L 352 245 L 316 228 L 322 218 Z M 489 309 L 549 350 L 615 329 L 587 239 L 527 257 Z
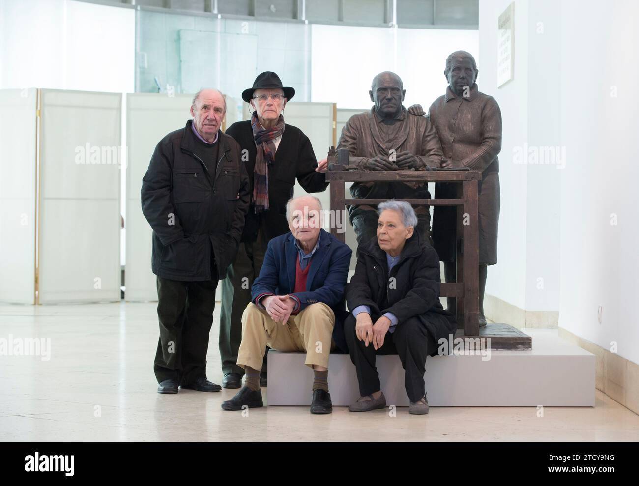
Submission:
M 240 147 L 220 131 L 225 113 L 219 91 L 199 91 L 194 119 L 160 140 L 142 178 L 157 275 L 158 393 L 221 390 L 206 379 L 215 289 L 235 258 L 250 199 Z

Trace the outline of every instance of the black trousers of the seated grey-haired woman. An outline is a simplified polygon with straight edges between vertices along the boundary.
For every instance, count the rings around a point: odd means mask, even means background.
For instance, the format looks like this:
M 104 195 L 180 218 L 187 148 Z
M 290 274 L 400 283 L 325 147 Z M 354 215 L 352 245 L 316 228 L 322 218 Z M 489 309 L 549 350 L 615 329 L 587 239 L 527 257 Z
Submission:
M 373 324 L 375 321 L 373 320 Z M 404 368 L 404 386 L 411 402 L 417 402 L 426 395 L 424 373 L 426 357 L 435 353 L 437 344 L 426 330 L 426 326 L 417 317 L 397 324 L 393 333 L 386 333 L 384 344 L 375 351 L 373 344 L 365 346 L 355 334 L 356 320 L 353 314 L 344 321 L 346 345 L 351 361 L 357 369 L 360 395 L 365 397 L 381 390 L 380 376 L 375 367 L 377 354 L 399 354 Z

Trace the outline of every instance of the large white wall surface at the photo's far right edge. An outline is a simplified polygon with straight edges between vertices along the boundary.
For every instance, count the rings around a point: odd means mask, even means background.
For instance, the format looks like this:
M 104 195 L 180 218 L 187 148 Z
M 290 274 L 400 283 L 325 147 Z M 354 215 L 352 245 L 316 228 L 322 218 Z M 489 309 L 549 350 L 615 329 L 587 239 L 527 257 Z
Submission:
M 601 7 L 601 4 L 596 4 Z M 559 325 L 639 363 L 639 3 L 561 4 Z M 602 307 L 601 324 L 597 308 Z M 615 351 L 613 351 L 615 352 Z

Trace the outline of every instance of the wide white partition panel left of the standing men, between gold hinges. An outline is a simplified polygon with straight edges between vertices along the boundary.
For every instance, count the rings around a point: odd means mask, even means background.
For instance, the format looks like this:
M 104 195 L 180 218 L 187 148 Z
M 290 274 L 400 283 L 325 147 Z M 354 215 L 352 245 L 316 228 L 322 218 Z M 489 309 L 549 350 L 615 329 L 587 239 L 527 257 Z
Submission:
M 40 303 L 120 298 L 121 102 L 41 91 Z

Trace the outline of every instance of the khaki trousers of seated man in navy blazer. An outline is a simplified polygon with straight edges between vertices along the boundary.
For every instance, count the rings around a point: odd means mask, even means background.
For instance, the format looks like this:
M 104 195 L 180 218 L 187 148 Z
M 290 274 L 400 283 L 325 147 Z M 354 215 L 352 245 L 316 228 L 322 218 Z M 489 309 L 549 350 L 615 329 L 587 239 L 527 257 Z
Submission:
M 250 303 L 242 314 L 242 343 L 237 364 L 259 370 L 268 346 L 282 353 L 305 352 L 305 365 L 328 368 L 328 355 L 335 347 L 334 326 L 335 314 L 322 302 L 291 315 L 286 324 L 276 323 L 266 310 Z

